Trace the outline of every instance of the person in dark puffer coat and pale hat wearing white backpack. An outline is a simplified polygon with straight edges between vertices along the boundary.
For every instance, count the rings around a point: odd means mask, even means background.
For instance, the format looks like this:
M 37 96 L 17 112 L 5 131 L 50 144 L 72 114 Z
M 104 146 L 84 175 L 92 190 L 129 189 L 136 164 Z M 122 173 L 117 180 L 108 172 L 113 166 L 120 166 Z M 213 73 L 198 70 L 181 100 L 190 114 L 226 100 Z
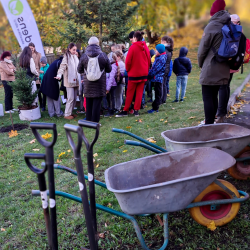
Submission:
M 110 73 L 112 67 L 97 37 L 91 37 L 88 44 L 81 57 L 78 73 L 83 74 L 86 120 L 99 122 L 102 99 L 106 96 L 106 73 Z

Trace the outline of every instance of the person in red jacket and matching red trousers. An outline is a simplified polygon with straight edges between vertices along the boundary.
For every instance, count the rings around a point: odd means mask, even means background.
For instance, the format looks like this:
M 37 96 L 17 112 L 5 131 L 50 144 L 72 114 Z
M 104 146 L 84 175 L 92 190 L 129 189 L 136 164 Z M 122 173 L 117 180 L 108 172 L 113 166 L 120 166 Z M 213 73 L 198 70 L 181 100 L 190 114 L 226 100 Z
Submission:
M 136 31 L 133 36 L 133 44 L 128 51 L 126 57 L 126 70 L 128 72 L 128 89 L 125 107 L 116 117 L 128 116 L 129 107 L 132 103 L 134 94 L 134 115 L 139 116 L 139 110 L 141 108 L 142 94 L 144 90 L 145 82 L 148 78 L 148 72 L 150 68 L 150 52 L 143 40 L 143 32 Z

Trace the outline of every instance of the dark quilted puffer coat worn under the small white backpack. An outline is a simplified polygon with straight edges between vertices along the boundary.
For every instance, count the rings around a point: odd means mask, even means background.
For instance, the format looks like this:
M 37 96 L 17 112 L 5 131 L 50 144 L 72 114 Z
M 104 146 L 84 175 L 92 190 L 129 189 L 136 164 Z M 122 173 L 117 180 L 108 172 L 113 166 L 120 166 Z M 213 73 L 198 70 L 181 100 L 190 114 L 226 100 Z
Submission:
M 96 57 L 98 55 L 100 55 L 98 58 L 100 69 L 101 71 L 104 70 L 104 72 L 99 80 L 90 82 L 85 74 L 85 70 L 87 70 L 89 61 L 88 56 Z M 106 73 L 110 73 L 111 69 L 112 67 L 107 55 L 102 52 L 98 45 L 92 44 L 86 48 L 85 53 L 82 55 L 78 65 L 78 73 L 83 74 L 85 97 L 97 98 L 106 95 Z

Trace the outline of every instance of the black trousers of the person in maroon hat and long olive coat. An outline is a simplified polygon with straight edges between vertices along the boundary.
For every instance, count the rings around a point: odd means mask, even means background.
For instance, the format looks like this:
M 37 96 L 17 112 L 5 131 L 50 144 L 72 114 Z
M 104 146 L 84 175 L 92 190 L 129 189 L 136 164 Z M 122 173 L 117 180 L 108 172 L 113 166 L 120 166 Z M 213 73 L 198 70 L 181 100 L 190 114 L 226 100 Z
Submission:
M 220 85 L 202 85 L 202 97 L 205 112 L 205 124 L 214 124 L 218 109 L 218 93 Z

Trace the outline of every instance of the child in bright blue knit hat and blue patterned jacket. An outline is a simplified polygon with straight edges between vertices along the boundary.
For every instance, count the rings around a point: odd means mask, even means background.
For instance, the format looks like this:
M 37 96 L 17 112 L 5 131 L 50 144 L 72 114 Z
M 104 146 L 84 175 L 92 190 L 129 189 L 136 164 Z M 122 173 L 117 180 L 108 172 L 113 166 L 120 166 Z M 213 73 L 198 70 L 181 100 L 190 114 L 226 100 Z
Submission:
M 156 45 L 155 62 L 148 75 L 154 82 L 155 100 L 152 103 L 152 109 L 148 111 L 149 114 L 159 111 L 162 97 L 162 83 L 166 71 L 167 55 L 165 52 L 165 46 L 163 44 Z

